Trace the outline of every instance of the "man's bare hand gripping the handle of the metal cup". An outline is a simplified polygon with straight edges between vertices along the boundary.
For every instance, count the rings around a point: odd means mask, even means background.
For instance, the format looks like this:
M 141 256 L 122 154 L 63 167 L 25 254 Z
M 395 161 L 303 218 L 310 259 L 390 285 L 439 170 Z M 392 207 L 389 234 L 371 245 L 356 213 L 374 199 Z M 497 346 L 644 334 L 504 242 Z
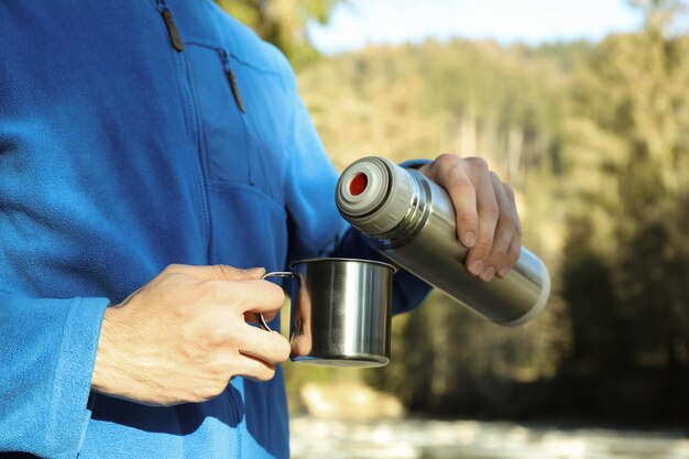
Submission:
M 196 403 L 219 395 L 232 376 L 267 381 L 289 356 L 275 331 L 244 314 L 274 316 L 282 288 L 263 269 L 169 265 L 124 302 L 106 309 L 91 389 L 146 405 Z

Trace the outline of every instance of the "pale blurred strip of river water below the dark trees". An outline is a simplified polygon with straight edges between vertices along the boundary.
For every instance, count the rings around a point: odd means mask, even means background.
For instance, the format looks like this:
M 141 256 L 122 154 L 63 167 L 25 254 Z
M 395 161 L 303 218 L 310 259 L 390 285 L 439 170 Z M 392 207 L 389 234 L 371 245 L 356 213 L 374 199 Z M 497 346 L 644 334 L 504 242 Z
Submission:
M 688 430 L 561 428 L 503 422 L 291 420 L 293 459 L 689 459 Z

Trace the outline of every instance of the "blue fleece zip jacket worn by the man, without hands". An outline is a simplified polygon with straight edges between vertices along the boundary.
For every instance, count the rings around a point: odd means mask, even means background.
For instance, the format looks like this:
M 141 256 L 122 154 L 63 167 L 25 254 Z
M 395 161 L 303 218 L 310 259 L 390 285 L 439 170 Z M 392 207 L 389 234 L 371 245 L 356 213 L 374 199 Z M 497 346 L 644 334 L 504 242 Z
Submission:
M 0 44 L 0 451 L 287 457 L 280 370 L 174 407 L 90 392 L 106 307 L 167 264 L 375 256 L 287 62 L 209 0 L 6 0 Z

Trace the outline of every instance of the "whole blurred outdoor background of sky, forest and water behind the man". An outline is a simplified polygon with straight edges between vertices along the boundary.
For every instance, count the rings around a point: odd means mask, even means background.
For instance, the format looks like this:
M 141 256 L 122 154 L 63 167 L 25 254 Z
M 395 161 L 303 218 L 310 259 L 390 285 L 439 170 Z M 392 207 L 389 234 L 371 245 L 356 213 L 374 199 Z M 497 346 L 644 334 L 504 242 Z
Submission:
M 383 369 L 286 364 L 295 458 L 689 458 L 689 20 L 675 0 L 218 0 L 341 171 L 485 157 L 546 261 L 516 329 L 441 294 Z

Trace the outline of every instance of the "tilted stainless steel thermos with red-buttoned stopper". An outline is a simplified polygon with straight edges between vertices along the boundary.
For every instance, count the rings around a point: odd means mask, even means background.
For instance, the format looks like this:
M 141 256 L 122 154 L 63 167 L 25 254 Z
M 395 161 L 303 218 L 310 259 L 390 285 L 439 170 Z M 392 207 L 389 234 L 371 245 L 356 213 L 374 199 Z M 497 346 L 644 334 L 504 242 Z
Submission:
M 449 196 L 417 171 L 364 157 L 340 176 L 336 203 L 385 258 L 493 323 L 522 325 L 548 299 L 548 270 L 526 249 L 504 278 L 485 283 L 470 275 Z

